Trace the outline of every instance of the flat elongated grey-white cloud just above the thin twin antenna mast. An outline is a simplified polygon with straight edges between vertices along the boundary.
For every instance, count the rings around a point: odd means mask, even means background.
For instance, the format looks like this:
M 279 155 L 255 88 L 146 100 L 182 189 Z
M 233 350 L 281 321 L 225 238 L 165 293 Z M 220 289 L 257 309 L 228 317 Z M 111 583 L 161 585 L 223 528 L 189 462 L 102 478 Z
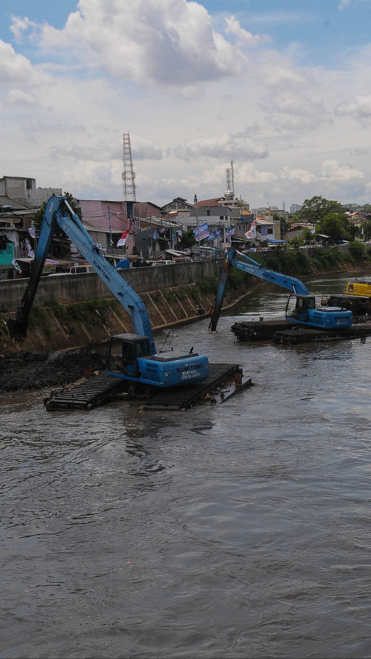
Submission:
M 186 161 L 198 158 L 267 158 L 265 145 L 253 142 L 246 133 L 249 134 L 250 130 L 242 133 L 226 132 L 219 137 L 193 138 L 170 150 L 168 155 Z

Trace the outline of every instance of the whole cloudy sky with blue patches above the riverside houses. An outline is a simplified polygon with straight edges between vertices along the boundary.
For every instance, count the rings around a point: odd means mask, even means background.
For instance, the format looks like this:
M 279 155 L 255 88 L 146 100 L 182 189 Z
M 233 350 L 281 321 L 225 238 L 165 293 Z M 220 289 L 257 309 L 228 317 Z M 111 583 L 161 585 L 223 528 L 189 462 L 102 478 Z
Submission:
M 1 175 L 77 198 L 371 201 L 371 0 L 0 2 Z

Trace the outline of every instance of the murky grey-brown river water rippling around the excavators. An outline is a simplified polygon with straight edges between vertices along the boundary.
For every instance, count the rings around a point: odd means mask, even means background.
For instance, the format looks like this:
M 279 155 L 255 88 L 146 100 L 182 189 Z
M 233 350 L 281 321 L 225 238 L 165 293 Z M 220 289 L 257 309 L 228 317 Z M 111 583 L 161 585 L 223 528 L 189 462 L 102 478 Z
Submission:
M 371 337 L 233 341 L 285 299 L 269 285 L 215 335 L 176 329 L 252 375 L 218 407 L 1 397 L 2 658 L 370 656 Z

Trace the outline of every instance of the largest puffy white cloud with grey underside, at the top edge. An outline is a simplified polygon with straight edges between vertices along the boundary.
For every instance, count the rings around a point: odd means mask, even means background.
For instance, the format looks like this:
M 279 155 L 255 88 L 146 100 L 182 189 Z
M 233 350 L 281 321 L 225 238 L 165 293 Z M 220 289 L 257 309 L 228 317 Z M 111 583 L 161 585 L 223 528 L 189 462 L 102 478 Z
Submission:
M 20 32 L 22 26 L 13 24 Z M 27 26 L 28 27 L 28 26 Z M 46 51 L 93 57 L 113 76 L 188 86 L 236 72 L 232 45 L 207 10 L 186 0 L 80 0 L 65 27 L 41 26 Z

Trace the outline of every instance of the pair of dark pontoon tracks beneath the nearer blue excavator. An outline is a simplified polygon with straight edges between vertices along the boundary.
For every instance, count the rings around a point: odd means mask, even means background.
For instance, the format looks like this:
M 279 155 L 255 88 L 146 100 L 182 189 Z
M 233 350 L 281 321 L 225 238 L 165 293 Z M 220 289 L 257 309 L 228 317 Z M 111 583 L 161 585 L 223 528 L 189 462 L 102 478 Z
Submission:
M 238 364 L 209 364 L 209 376 L 201 382 L 169 389 L 160 389 L 145 402 L 145 410 L 181 410 L 198 403 L 223 403 L 238 391 L 252 385 L 252 378 L 246 378 Z M 46 409 L 91 410 L 118 395 L 127 395 L 127 382 L 114 378 L 108 371 L 84 380 L 71 389 L 51 392 L 44 400 Z M 127 395 L 129 399 L 129 395 Z

